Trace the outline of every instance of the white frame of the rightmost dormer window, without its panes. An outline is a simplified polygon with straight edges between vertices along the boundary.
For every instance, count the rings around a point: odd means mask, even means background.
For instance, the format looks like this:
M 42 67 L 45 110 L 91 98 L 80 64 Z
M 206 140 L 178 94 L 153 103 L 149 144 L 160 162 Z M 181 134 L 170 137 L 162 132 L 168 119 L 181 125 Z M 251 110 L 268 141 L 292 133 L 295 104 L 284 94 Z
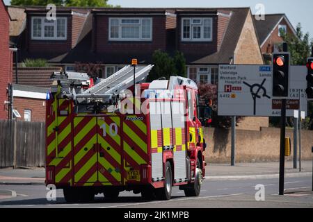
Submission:
M 201 22 L 193 23 L 193 20 L 201 20 Z M 209 19 L 211 36 L 209 38 L 204 38 L 204 19 Z M 184 20 L 189 20 L 189 37 L 184 38 Z M 182 42 L 212 42 L 213 40 L 213 19 L 211 17 L 186 17 L 182 18 L 181 21 L 181 40 Z M 193 38 L 193 27 L 200 26 L 200 38 Z

